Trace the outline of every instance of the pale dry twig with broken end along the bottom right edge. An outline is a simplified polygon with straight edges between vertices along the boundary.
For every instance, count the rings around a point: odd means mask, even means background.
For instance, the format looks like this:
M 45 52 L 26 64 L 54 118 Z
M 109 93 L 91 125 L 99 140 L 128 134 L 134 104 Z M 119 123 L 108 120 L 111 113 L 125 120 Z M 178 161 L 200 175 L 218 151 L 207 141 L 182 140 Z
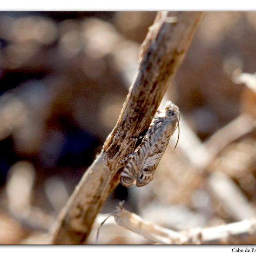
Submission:
M 140 234 L 153 243 L 161 244 L 235 244 L 252 243 L 256 240 L 256 219 L 243 220 L 212 228 L 196 228 L 186 231 L 173 231 L 117 206 L 114 217 L 121 227 Z

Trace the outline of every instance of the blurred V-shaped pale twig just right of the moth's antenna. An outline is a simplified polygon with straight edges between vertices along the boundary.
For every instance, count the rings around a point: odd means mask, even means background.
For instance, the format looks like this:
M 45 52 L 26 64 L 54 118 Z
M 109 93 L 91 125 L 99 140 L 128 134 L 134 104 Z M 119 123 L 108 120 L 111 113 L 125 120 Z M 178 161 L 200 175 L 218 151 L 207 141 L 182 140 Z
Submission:
M 180 125 L 182 136 L 178 149 L 193 167 L 206 170 L 218 154 L 231 142 L 248 135 L 256 129 L 255 119 L 247 114 L 241 114 L 226 126 L 216 131 L 209 139 L 202 142 L 195 132 L 189 127 L 181 115 Z M 171 140 L 175 141 L 174 137 Z

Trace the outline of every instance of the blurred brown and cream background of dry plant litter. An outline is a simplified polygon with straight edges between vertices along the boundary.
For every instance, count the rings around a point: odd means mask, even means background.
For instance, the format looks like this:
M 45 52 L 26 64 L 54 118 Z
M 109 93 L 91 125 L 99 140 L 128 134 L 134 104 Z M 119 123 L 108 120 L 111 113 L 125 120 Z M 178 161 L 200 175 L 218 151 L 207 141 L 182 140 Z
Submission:
M 45 243 L 115 126 L 155 14 L 0 12 L 0 244 Z M 256 216 L 255 42 L 256 12 L 206 13 L 165 97 L 178 147 L 146 187 L 119 185 L 95 227 L 121 200 L 175 230 Z M 150 241 L 110 221 L 100 243 Z

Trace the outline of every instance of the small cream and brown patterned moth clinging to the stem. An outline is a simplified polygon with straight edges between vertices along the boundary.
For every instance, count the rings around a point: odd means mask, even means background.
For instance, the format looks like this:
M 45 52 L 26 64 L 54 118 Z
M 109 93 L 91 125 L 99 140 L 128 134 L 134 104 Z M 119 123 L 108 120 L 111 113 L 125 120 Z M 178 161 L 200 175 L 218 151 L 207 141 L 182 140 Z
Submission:
M 159 110 L 151 122 L 141 144 L 134 153 L 128 155 L 129 162 L 121 173 L 123 186 L 131 187 L 136 184 L 137 187 L 142 187 L 153 180 L 155 169 L 177 127 L 179 108 L 167 101 L 164 110 Z

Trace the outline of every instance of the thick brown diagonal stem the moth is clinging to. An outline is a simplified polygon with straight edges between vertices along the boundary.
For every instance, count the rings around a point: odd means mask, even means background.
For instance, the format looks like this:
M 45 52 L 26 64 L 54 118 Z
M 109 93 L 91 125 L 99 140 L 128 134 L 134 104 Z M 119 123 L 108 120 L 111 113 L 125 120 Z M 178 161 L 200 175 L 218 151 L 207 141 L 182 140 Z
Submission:
M 120 179 L 120 160 L 133 152 L 173 80 L 202 19 L 202 12 L 157 14 L 141 47 L 135 81 L 101 154 L 88 168 L 52 229 L 51 243 L 81 244 Z M 170 18 L 175 16 L 176 18 Z

